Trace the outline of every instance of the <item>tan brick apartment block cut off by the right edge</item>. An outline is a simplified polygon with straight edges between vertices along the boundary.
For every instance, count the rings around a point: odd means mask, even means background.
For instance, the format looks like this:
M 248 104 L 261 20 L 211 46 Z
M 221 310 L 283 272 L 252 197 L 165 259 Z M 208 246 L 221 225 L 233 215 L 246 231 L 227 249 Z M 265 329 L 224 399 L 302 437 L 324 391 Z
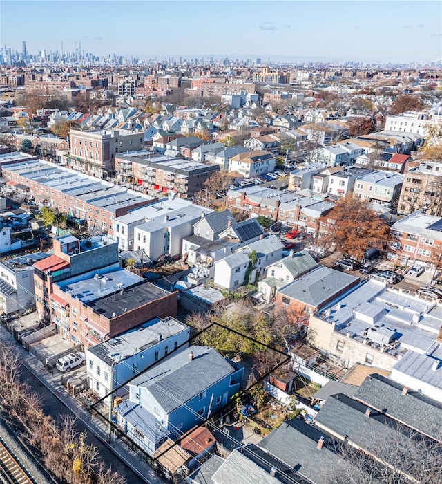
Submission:
M 425 210 L 427 214 L 442 215 L 442 162 L 408 162 L 405 166 L 399 214 Z

